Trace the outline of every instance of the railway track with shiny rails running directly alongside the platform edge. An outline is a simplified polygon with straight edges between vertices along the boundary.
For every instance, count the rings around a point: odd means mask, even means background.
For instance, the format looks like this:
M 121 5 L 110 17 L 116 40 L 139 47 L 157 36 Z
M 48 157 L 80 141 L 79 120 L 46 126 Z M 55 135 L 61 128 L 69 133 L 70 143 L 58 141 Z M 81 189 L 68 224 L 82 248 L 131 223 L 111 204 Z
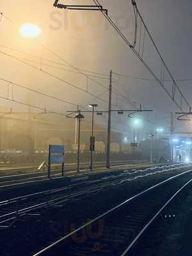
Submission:
M 106 190 L 114 186 L 122 185 L 132 180 L 141 179 L 157 173 L 170 172 L 182 168 L 181 164 L 170 166 L 156 166 L 142 170 L 124 171 L 97 180 L 87 180 L 86 176 L 81 182 L 70 184 L 64 188 L 49 189 L 33 193 L 30 195 L 10 198 L 0 202 L 0 226 L 1 228 L 10 227 L 16 220 L 23 216 L 33 214 L 33 211 L 44 207 L 62 204 L 78 196 L 93 194 L 98 191 Z M 184 165 L 186 168 L 186 164 Z

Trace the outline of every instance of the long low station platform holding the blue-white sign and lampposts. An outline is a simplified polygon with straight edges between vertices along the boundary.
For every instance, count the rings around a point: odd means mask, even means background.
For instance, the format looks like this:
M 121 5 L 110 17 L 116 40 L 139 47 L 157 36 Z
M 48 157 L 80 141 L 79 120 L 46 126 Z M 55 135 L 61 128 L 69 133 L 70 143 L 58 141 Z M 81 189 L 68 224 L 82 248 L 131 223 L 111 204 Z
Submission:
M 112 177 L 114 175 L 121 175 L 124 172 L 132 172 L 150 167 L 152 165 L 148 163 L 124 164 L 113 166 L 110 170 L 102 167 L 92 172 L 90 170 L 82 170 L 79 173 L 66 172 L 65 177 L 61 177 L 61 174 L 54 175 L 52 173 L 51 179 L 47 178 L 47 172 L 40 173 L 40 177 L 33 177 L 33 175 L 31 177 L 26 177 L 26 175 L 0 177 L 0 200 L 49 189 L 63 188 L 65 186 L 86 186 L 87 182 L 93 182 L 98 179 L 102 180 L 109 176 Z

